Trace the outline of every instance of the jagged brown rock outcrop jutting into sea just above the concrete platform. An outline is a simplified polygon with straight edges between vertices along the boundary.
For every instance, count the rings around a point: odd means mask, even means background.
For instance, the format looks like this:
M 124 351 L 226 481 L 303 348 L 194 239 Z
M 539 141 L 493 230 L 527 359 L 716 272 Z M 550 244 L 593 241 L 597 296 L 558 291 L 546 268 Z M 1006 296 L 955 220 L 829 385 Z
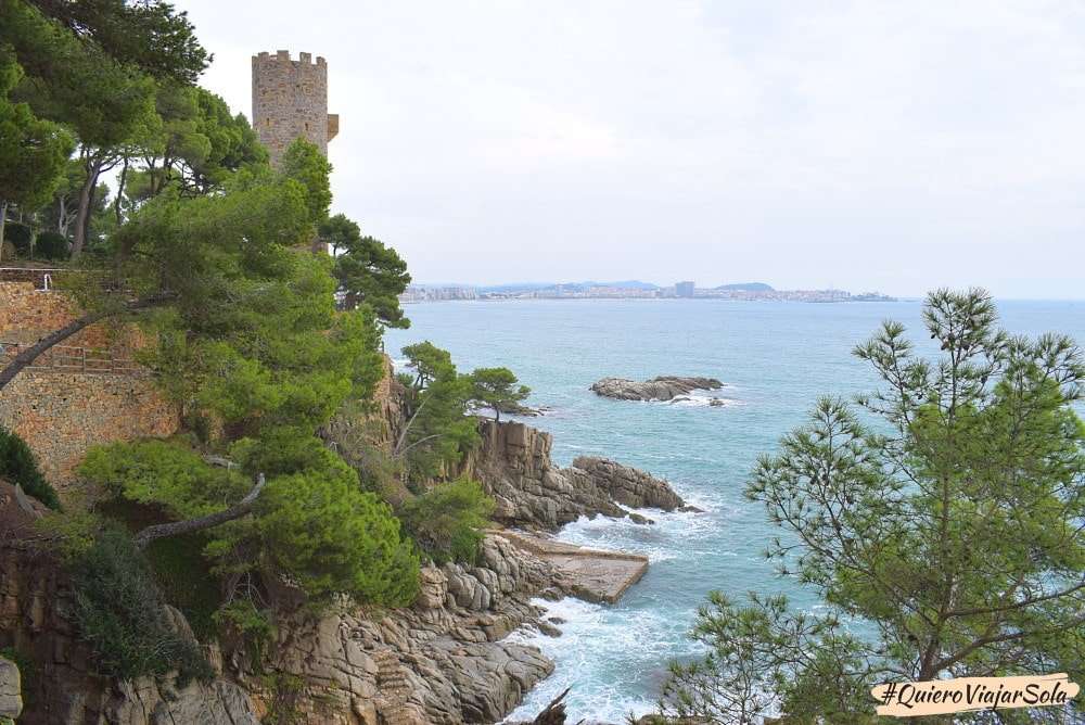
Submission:
M 605 458 L 580 457 L 570 468 L 550 460 L 552 438 L 519 422 L 484 421 L 482 444 L 464 472 L 475 476 L 497 503 L 494 517 L 513 526 L 556 531 L 582 516 L 629 516 L 623 506 L 666 511 L 685 503 L 666 481 Z

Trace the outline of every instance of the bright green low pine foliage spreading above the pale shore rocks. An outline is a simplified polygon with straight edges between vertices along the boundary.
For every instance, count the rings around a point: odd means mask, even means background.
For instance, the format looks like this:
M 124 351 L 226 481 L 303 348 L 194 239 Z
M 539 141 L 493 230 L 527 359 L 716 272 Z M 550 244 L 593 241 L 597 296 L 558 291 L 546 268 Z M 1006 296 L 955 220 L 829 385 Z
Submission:
M 116 443 L 92 448 L 79 472 L 176 519 L 227 508 L 261 472 L 268 483 L 255 516 L 209 531 L 204 551 L 217 571 L 285 575 L 317 603 L 335 594 L 410 602 L 418 558 L 400 538 L 399 522 L 374 494 L 362 493 L 357 473 L 311 432 L 270 429 L 266 437 L 239 441 L 232 454 L 242 469 L 212 467 L 165 441 Z

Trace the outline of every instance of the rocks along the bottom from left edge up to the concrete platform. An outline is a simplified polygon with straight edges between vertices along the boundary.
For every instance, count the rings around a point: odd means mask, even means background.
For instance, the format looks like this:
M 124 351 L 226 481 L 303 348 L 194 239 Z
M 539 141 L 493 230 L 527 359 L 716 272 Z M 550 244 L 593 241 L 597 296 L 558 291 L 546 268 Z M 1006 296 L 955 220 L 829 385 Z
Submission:
M 528 600 L 553 587 L 572 590 L 551 564 L 487 537 L 477 567 L 424 568 L 411 608 L 298 613 L 280 623 L 273 656 L 258 667 L 243 648 L 210 645 L 218 675 L 209 683 L 126 683 L 94 674 L 65 618 L 63 570 L 44 550 L 9 540 L 0 543 L 0 647 L 35 663 L 23 684 L 29 709 L 20 723 L 28 725 L 255 725 L 288 703 L 293 722 L 309 725 L 496 722 L 553 670 L 537 648 L 502 641 L 537 625 L 541 611 Z M 170 618 L 188 632 L 179 612 Z

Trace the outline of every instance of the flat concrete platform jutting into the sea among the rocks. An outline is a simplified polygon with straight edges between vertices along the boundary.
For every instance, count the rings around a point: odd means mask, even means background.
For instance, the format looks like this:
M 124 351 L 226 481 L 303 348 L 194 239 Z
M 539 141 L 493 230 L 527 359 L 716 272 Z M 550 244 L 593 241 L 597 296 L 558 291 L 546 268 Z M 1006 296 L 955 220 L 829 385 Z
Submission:
M 613 605 L 648 571 L 648 557 L 639 554 L 589 549 L 519 531 L 489 533 L 549 561 L 569 578 L 572 594 L 587 601 Z

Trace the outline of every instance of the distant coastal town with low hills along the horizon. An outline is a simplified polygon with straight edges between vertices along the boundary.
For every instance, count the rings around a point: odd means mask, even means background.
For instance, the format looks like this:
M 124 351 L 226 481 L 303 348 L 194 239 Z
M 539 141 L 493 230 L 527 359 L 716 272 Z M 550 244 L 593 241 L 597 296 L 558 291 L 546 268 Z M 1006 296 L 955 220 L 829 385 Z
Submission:
M 852 294 L 845 290 L 777 290 L 764 282 L 742 282 L 699 288 L 692 281 L 661 287 L 651 282 L 565 282 L 495 284 L 474 287 L 467 284 L 411 284 L 399 302 L 448 302 L 456 300 L 666 300 L 705 298 L 741 300 L 752 302 L 896 302 L 879 292 Z

